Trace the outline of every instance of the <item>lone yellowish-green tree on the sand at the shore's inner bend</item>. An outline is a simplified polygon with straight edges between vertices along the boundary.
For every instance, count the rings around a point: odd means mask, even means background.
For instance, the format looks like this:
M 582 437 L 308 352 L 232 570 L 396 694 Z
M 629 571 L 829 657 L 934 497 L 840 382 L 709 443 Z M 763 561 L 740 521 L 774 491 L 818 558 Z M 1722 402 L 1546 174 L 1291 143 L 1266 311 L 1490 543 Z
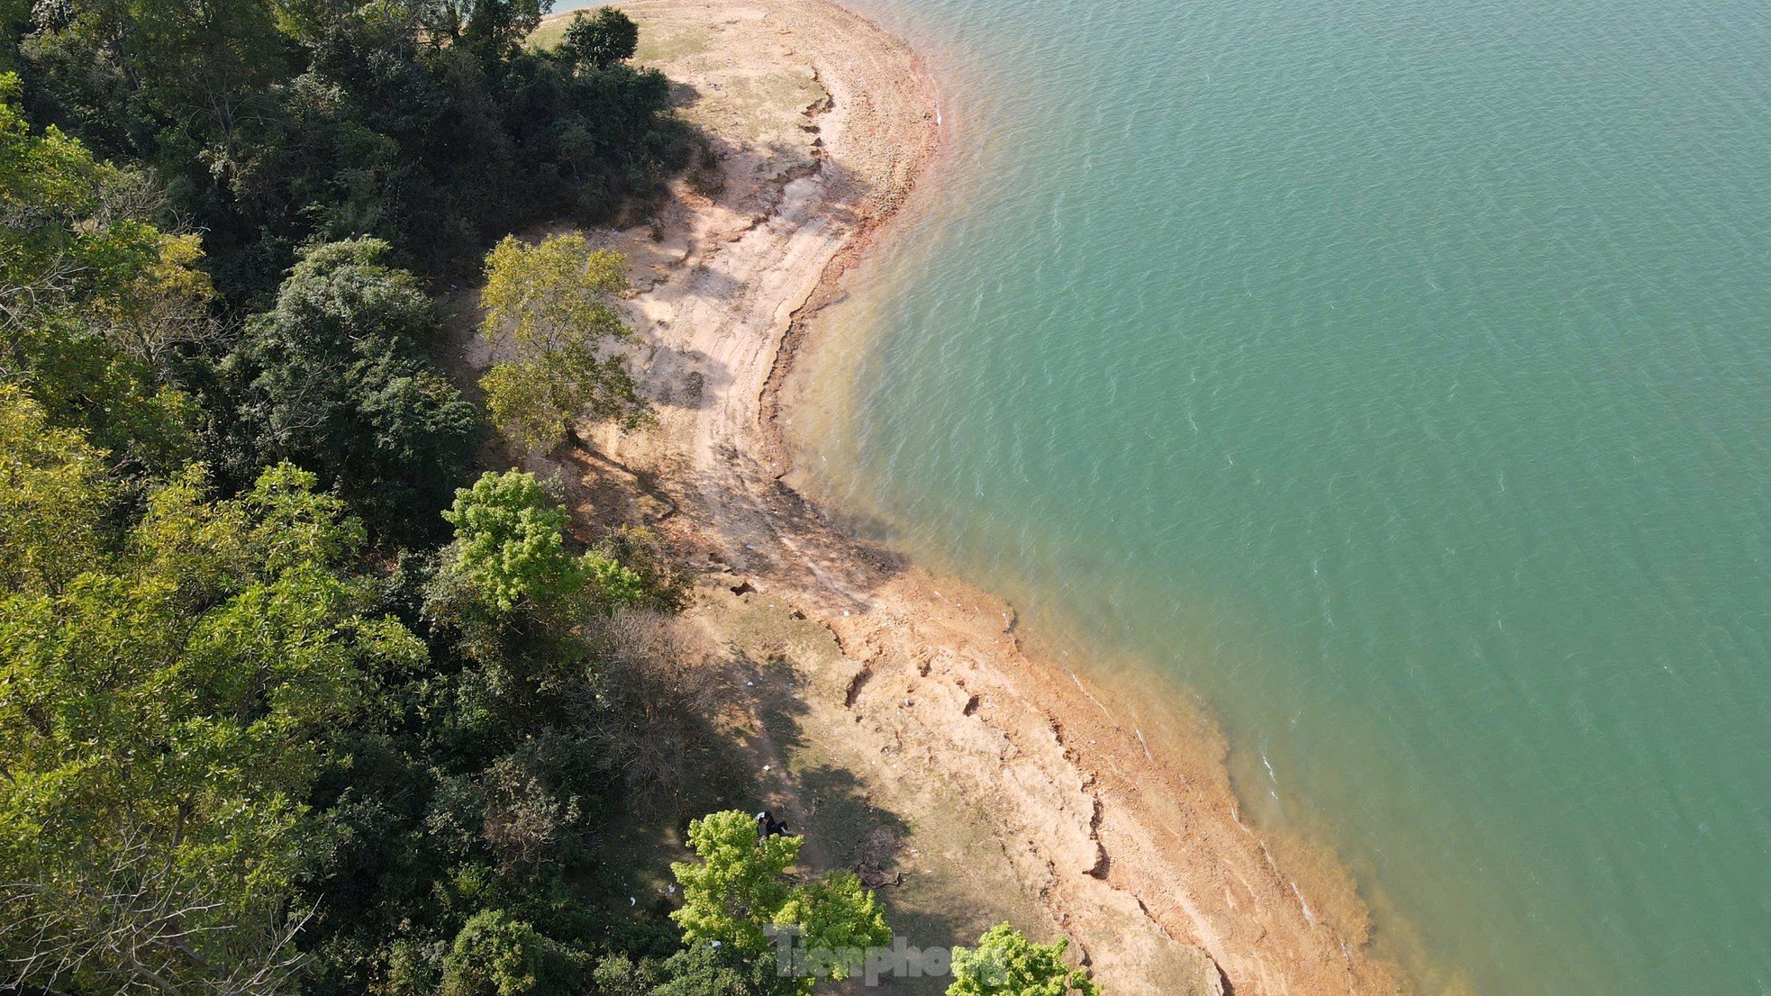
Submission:
M 650 418 L 627 357 L 604 352 L 632 338 L 616 299 L 627 260 L 592 251 L 583 235 L 524 246 L 505 237 L 485 258 L 487 341 L 499 359 L 480 380 L 492 421 L 517 444 L 547 449 L 579 418 L 638 426 Z

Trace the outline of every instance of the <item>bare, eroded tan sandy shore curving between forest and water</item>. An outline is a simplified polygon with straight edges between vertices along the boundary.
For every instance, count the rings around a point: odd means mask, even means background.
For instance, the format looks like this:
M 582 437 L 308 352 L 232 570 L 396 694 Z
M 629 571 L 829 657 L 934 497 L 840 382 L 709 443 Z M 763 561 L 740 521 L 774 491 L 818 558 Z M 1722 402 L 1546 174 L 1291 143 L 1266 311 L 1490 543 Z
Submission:
M 1110 992 L 1403 991 L 1350 877 L 1240 821 L 1208 724 L 1172 743 L 1121 729 L 1105 688 L 1022 651 L 1008 605 L 855 541 L 783 483 L 793 357 L 939 168 L 923 62 L 824 0 L 622 7 L 721 180 L 600 234 L 632 260 L 661 419 L 597 433 L 599 456 L 568 458 L 572 494 L 586 522 L 652 520 L 703 570 L 689 617 L 753 676 L 765 798 L 811 860 L 878 883 L 912 945 L 1008 918 L 1070 936 Z

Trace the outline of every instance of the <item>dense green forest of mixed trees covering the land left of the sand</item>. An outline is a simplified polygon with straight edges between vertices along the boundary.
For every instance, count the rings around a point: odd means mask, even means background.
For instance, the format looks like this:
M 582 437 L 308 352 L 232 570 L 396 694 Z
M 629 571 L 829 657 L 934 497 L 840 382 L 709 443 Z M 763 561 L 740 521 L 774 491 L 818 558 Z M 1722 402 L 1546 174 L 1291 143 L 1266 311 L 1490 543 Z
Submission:
M 544 9 L 0 2 L 0 992 L 785 994 L 765 927 L 891 939 L 747 814 L 680 814 L 675 906 L 604 853 L 703 762 L 648 754 L 687 586 L 475 465 L 648 419 L 620 257 L 499 237 L 689 136 L 632 21 Z M 436 363 L 482 260 L 485 410 Z M 956 991 L 1086 987 L 992 945 L 1029 987 Z

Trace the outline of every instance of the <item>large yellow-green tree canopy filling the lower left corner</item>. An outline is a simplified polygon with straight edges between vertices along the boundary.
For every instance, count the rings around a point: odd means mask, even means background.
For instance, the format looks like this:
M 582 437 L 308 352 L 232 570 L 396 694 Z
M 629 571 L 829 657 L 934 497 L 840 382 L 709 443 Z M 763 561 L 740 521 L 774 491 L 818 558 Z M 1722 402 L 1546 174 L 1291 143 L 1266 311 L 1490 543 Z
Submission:
M 57 449 L 34 456 L 39 508 L 90 508 L 90 476 L 44 472 Z M 48 586 L 21 571 L 0 596 L 7 982 L 283 985 L 329 732 L 372 674 L 423 658 L 340 570 L 361 527 L 285 465 L 234 501 L 189 471 L 115 547 L 92 531 L 7 541 L 87 564 Z

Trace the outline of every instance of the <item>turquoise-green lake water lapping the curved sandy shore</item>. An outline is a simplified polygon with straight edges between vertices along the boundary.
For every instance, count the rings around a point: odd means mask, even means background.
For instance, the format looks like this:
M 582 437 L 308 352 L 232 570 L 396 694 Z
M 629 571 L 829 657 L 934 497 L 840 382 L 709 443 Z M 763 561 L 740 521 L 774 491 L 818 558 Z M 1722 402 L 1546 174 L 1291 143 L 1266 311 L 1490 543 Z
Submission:
M 1195 690 L 1433 989 L 1771 992 L 1771 5 L 862 7 L 960 126 L 818 490 Z

